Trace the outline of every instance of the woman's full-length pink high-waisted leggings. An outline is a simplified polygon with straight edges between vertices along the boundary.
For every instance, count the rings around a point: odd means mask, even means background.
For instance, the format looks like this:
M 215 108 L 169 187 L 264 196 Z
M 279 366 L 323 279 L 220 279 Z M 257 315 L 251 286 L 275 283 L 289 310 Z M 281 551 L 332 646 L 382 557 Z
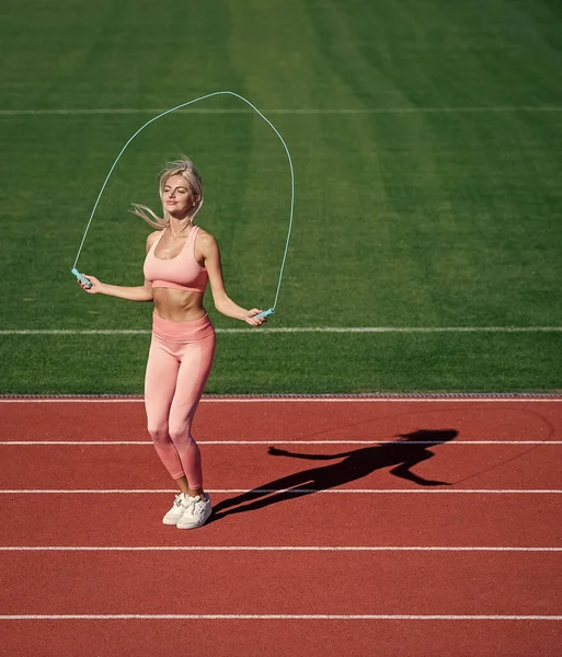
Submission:
M 153 314 L 145 380 L 148 431 L 172 479 L 203 487 L 200 453 L 192 437 L 193 416 L 215 356 L 215 328 L 208 315 L 172 322 Z

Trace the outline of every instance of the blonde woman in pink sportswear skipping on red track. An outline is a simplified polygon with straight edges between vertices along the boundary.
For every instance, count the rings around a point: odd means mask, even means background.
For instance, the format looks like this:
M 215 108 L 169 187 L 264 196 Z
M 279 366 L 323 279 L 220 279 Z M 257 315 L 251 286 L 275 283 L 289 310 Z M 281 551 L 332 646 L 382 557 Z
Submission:
M 171 162 L 160 176 L 163 218 L 146 206 L 135 214 L 158 230 L 148 235 L 145 285 L 122 287 L 84 274 L 90 295 L 153 301 L 152 342 L 145 380 L 148 431 L 180 493 L 163 517 L 180 529 L 200 527 L 211 514 L 203 487 L 200 453 L 191 427 L 213 366 L 215 330 L 203 306 L 207 283 L 216 309 L 251 326 L 265 322 L 227 295 L 215 238 L 193 223 L 203 205 L 199 174 L 187 158 Z

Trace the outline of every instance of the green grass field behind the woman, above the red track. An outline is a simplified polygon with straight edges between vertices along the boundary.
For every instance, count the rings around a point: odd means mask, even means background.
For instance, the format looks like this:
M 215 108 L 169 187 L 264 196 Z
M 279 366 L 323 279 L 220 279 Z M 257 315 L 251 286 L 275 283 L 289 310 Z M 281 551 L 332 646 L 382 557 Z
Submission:
M 141 392 L 149 334 L 80 331 L 148 331 L 150 306 L 89 297 L 70 268 L 125 141 L 219 90 L 286 139 L 296 215 L 277 313 L 219 333 L 207 392 L 562 389 L 560 2 L 5 0 L 0 53 L 0 393 Z M 289 171 L 233 97 L 139 135 L 79 267 L 141 283 L 150 229 L 130 203 L 158 209 L 157 173 L 182 152 L 230 296 L 267 308 Z M 268 331 L 312 326 L 548 330 Z

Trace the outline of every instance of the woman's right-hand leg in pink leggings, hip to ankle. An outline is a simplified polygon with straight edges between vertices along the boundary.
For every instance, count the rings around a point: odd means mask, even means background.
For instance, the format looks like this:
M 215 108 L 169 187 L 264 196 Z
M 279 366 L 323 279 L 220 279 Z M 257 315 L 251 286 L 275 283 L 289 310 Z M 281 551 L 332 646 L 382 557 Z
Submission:
M 200 452 L 192 436 L 192 423 L 213 367 L 215 335 L 186 344 L 181 351 L 175 393 L 169 416 L 169 433 L 182 470 L 188 495 L 204 496 Z

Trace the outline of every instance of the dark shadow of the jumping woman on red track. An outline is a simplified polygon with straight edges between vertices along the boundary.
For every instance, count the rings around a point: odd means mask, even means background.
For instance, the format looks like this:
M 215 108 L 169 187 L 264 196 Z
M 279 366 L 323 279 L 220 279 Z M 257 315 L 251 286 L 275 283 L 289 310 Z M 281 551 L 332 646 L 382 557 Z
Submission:
M 454 440 L 458 435 L 456 429 L 418 429 L 411 434 L 401 434 L 394 442 L 363 447 L 337 454 L 310 454 L 289 452 L 271 447 L 268 453 L 273 457 L 289 457 L 310 461 L 331 461 L 341 459 L 337 463 L 311 468 L 295 472 L 288 476 L 275 480 L 242 495 L 219 502 L 209 521 L 219 520 L 229 514 L 255 511 L 271 504 L 311 495 L 357 481 L 376 470 L 392 468 L 390 474 L 408 480 L 420 486 L 447 486 L 447 482 L 426 480 L 412 472 L 412 468 L 431 459 L 434 453 L 428 446 L 441 445 Z M 234 508 L 236 507 L 236 508 Z

